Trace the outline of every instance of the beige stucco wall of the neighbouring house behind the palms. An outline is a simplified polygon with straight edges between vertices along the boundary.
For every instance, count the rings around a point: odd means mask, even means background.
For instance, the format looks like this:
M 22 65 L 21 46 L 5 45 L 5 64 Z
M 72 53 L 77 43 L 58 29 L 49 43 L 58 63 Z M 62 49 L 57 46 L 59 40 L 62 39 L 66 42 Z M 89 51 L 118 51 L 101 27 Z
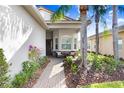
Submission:
M 123 45 L 122 45 L 122 49 L 119 50 L 119 57 L 123 57 L 124 58 L 124 31 L 123 32 L 119 32 L 119 38 L 121 38 L 123 40 Z M 90 42 L 90 50 L 91 51 L 95 51 L 94 49 L 94 45 L 95 45 L 95 38 L 89 39 L 88 40 Z M 100 48 L 100 53 L 102 54 L 111 54 L 113 55 L 113 39 L 112 39 L 112 35 L 108 35 L 108 36 L 101 36 L 99 38 L 99 48 Z

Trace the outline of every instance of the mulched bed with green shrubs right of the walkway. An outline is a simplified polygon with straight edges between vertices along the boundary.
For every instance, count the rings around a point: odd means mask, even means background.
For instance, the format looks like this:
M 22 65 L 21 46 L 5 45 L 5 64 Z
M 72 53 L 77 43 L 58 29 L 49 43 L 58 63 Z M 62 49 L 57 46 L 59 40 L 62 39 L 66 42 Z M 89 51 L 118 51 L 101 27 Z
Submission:
M 69 60 L 68 60 L 68 62 L 67 62 L 67 60 L 66 61 L 64 60 L 66 85 L 69 88 L 75 88 L 75 87 L 79 88 L 79 87 L 83 87 L 83 86 L 91 86 L 91 84 L 94 84 L 94 83 L 103 83 L 103 82 L 123 81 L 124 80 L 124 66 L 123 66 L 124 62 L 122 62 L 122 61 L 115 62 L 112 57 L 107 57 L 107 56 L 103 56 L 103 55 L 99 55 L 99 56 L 96 56 L 94 54 L 91 54 L 91 55 L 88 54 L 88 56 L 89 56 L 88 62 L 89 63 L 94 62 L 94 64 L 92 63 L 92 66 L 88 70 L 87 75 L 83 78 L 81 78 L 78 71 L 76 74 L 73 73 L 74 69 L 76 71 L 76 67 L 72 68 L 71 66 L 69 66 L 69 64 L 68 64 Z M 80 64 L 80 60 L 76 60 L 73 63 Z M 79 66 L 79 65 L 77 65 L 77 66 Z M 121 86 L 121 87 L 124 87 L 124 86 Z

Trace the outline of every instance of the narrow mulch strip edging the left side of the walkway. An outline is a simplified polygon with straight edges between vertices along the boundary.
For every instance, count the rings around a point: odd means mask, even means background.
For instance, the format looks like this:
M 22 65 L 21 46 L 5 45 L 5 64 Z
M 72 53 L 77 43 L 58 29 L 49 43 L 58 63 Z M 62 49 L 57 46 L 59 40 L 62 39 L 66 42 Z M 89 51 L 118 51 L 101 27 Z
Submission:
M 24 88 L 32 88 L 36 83 L 37 80 L 39 79 L 39 77 L 41 76 L 42 72 L 44 71 L 44 69 L 46 68 L 46 66 L 48 65 L 50 61 L 46 62 L 45 64 L 42 65 L 42 67 L 40 67 L 36 73 L 34 74 L 34 76 L 29 80 L 29 82 L 27 84 L 24 85 Z

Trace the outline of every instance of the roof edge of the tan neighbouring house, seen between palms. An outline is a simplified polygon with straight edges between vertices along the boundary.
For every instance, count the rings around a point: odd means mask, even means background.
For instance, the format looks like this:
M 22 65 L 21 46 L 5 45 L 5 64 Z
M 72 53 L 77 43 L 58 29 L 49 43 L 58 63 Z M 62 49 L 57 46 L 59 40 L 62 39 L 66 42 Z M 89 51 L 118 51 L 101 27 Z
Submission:
M 124 25 L 119 26 L 118 30 L 119 30 L 119 33 L 124 32 Z M 111 35 L 112 34 L 112 29 L 109 29 L 109 32 L 110 33 L 108 33 L 108 35 Z M 103 34 L 104 34 L 104 32 L 99 33 L 99 37 L 102 37 Z M 88 37 L 88 39 L 94 39 L 95 36 L 96 36 L 95 34 L 91 35 L 91 36 Z

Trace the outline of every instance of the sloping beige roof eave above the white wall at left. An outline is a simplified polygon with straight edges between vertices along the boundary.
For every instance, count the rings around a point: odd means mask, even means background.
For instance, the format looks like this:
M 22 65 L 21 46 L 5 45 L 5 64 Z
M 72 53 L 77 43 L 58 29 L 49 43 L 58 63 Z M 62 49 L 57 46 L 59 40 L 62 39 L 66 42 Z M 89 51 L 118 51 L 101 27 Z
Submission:
M 33 5 L 23 5 L 23 7 L 44 29 L 48 29 L 45 20 L 42 18 L 36 7 Z

